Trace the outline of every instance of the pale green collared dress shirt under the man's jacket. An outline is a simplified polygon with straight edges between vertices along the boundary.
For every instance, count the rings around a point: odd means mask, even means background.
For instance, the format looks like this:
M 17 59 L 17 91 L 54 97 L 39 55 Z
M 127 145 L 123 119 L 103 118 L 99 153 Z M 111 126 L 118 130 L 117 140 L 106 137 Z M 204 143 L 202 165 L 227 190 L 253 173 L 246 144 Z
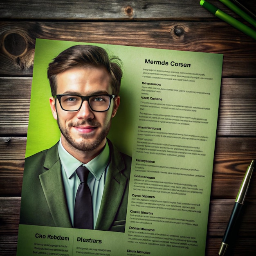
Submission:
M 76 174 L 76 169 L 83 165 L 90 171 L 87 179 L 87 184 L 92 194 L 92 208 L 93 208 L 93 223 L 94 228 L 99 215 L 101 206 L 101 199 L 105 186 L 106 176 L 108 172 L 108 165 L 110 159 L 110 149 L 108 142 L 97 157 L 92 159 L 87 164 L 83 164 L 75 157 L 70 155 L 60 143 L 58 144 L 58 154 L 61 160 L 61 172 L 67 199 L 67 207 L 70 213 L 72 225 L 74 225 L 74 205 L 76 198 L 76 191 L 80 184 L 79 177 Z

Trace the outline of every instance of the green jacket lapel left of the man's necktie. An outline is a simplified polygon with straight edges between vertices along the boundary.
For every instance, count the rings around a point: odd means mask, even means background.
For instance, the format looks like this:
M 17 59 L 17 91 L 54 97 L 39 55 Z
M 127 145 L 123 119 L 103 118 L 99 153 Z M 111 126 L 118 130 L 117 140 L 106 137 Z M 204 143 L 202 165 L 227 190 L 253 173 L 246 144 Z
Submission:
M 67 209 L 65 190 L 61 177 L 58 144 L 47 151 L 44 167 L 48 169 L 39 179 L 56 227 L 72 227 Z

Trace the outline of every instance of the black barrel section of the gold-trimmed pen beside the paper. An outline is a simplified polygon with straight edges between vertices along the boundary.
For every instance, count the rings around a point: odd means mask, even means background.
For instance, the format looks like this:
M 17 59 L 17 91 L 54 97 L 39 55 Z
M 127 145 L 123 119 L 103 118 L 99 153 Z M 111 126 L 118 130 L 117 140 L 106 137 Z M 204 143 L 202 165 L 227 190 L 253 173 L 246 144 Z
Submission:
M 224 242 L 228 245 L 232 242 L 233 237 L 236 234 L 236 231 L 238 228 L 237 225 L 240 220 L 242 209 L 243 209 L 243 204 L 235 202 L 231 216 L 229 218 L 229 223 L 227 225 L 225 234 L 222 238 L 222 242 Z

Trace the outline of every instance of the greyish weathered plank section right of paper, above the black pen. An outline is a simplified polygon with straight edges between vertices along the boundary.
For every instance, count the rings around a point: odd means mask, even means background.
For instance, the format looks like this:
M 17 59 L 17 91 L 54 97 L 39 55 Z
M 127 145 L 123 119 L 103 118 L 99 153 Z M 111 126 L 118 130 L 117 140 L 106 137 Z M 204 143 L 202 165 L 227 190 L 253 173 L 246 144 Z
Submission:
M 256 135 L 256 79 L 222 79 L 218 136 Z

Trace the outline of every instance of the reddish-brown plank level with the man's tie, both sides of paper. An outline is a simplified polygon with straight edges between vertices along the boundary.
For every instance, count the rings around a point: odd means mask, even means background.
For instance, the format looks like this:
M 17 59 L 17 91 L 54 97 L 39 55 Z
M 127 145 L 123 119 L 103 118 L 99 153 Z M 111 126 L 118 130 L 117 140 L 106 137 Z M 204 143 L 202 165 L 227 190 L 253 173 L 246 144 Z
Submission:
M 212 198 L 236 198 L 247 166 L 256 157 L 255 144 L 256 138 L 217 138 Z M 0 137 L 0 195 L 21 195 L 25 148 L 26 137 Z M 256 198 L 256 175 L 248 198 Z

